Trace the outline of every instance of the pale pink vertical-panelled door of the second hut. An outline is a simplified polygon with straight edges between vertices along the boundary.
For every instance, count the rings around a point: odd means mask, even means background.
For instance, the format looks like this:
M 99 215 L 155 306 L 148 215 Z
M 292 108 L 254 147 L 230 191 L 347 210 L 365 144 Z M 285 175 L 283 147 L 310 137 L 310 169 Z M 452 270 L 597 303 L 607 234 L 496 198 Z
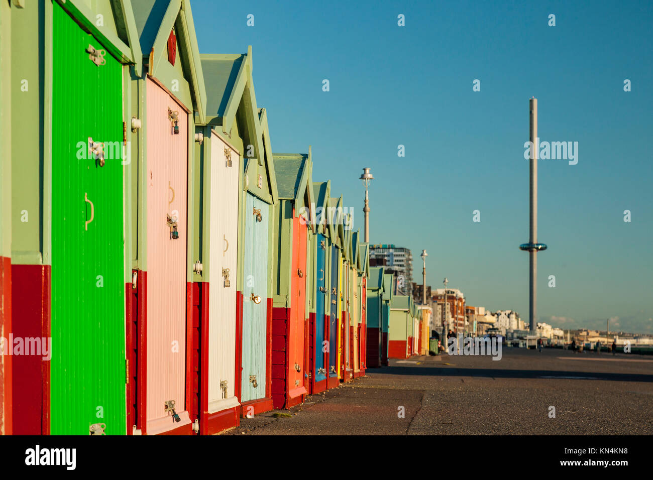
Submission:
M 185 411 L 186 242 L 188 116 L 180 104 L 150 78 L 147 86 L 147 419 L 148 433 L 169 430 L 167 400 Z M 168 108 L 178 112 L 173 133 Z M 167 215 L 177 217 L 179 238 L 173 240 Z M 185 415 L 182 415 L 185 413 Z M 166 418 L 168 417 L 168 419 Z M 189 420 L 188 420 L 189 421 Z

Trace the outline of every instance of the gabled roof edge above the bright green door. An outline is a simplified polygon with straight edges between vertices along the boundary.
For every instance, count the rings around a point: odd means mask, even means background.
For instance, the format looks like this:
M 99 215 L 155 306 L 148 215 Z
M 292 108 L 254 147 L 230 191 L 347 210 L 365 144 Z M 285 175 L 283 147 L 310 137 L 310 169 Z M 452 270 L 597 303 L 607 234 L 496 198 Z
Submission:
M 112 31 L 108 22 L 107 25 L 97 25 L 96 12 L 100 6 L 96 5 L 96 8 L 91 9 L 84 0 L 59 0 L 57 3 L 80 24 L 82 29 L 98 39 L 102 46 L 121 63 L 132 63 L 135 65 L 136 72 L 140 72 L 142 66 L 142 53 L 138 40 L 140 32 L 134 21 L 131 0 L 119 0 L 110 4 L 118 36 Z M 127 43 L 123 42 L 120 37 Z

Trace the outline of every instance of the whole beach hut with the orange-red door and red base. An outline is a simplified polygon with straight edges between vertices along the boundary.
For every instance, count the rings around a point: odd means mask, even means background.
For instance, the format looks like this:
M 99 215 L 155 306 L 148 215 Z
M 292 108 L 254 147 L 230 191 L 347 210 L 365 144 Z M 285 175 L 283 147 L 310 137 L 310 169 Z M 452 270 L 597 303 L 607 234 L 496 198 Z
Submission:
M 290 408 L 304 401 L 308 390 L 307 237 L 313 188 L 311 154 L 274 153 L 279 195 L 274 219 L 272 296 L 272 401 Z

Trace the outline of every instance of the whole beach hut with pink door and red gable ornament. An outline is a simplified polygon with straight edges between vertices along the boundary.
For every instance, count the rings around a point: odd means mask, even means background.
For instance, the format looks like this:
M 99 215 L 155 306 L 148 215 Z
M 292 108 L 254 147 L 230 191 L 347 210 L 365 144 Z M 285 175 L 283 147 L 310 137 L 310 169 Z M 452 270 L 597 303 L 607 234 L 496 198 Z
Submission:
M 146 0 L 133 10 L 144 65 L 130 85 L 136 161 L 127 417 L 133 434 L 191 434 L 199 430 L 193 165 L 206 92 L 189 3 Z

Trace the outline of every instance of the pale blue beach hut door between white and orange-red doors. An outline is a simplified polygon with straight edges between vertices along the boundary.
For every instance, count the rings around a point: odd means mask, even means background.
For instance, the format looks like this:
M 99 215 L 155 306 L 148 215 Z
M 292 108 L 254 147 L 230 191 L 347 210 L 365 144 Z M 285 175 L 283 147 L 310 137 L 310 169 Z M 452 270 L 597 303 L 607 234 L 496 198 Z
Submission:
M 266 396 L 269 215 L 270 206 L 248 192 L 245 207 L 241 403 Z

